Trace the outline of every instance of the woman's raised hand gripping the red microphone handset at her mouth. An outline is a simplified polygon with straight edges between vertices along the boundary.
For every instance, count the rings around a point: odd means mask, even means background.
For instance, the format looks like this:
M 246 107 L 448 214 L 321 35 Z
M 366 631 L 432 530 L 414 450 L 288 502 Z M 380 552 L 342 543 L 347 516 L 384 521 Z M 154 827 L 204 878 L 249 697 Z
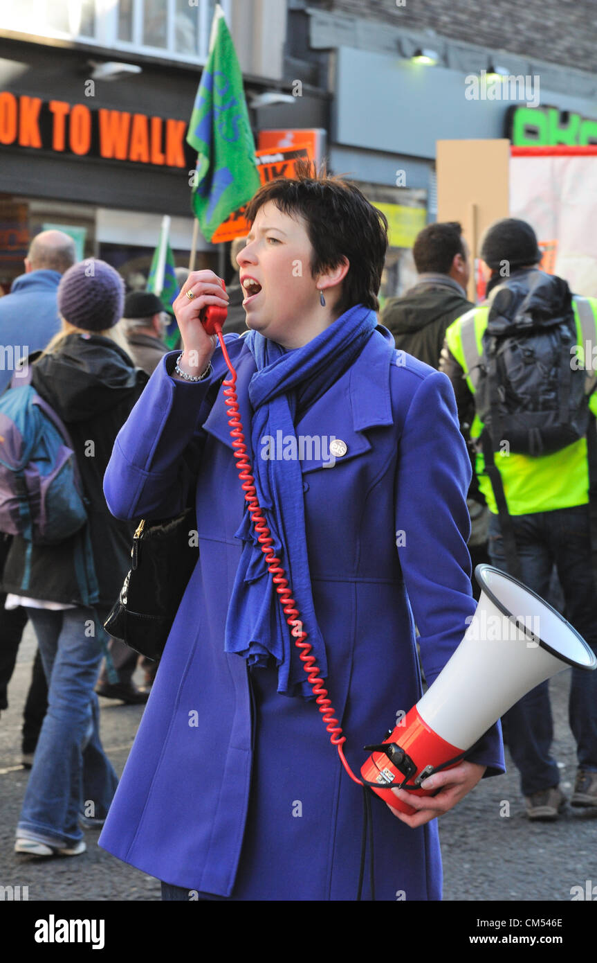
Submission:
M 228 314 L 228 294 L 222 278 L 212 271 L 192 271 L 172 307 L 181 331 L 179 367 L 189 377 L 203 374 Z

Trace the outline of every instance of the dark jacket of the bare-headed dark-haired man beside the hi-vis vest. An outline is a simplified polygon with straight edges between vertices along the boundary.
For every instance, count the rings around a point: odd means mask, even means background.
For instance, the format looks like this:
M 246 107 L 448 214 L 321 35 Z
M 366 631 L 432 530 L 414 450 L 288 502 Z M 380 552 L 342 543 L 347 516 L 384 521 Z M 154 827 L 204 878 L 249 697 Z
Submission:
M 446 328 L 474 305 L 451 284 L 423 281 L 401 298 L 390 298 L 382 325 L 394 335 L 396 348 L 437 368 Z

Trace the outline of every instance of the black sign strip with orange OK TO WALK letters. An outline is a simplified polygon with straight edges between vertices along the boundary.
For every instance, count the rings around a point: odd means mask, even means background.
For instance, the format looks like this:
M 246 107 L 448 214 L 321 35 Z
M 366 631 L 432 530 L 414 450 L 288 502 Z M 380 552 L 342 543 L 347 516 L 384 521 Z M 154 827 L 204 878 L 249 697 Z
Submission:
M 0 144 L 186 168 L 187 120 L 0 93 Z

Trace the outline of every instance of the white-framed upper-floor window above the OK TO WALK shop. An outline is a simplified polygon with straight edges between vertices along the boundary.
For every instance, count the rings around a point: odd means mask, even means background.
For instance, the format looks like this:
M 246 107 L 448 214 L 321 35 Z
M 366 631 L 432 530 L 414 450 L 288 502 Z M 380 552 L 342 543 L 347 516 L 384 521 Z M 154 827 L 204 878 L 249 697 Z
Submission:
M 230 17 L 231 0 L 220 0 Z M 114 51 L 205 63 L 215 0 L 18 0 L 3 27 L 37 37 L 81 40 Z M 35 24 L 35 27 L 32 25 Z

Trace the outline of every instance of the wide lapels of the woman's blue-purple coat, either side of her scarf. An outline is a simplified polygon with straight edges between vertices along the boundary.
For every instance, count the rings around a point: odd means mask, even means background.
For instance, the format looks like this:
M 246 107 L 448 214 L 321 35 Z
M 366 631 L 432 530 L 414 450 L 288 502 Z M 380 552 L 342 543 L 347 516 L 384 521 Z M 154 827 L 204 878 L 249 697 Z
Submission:
M 236 368 L 236 394 L 239 415 L 244 429 L 245 443 L 250 448 L 251 418 L 253 408 L 249 402 L 248 387 L 256 371 L 251 351 L 242 345 L 242 338 L 227 341 L 231 361 Z M 330 388 L 296 425 L 296 434 L 335 437 L 346 445 L 346 454 L 340 461 L 348 461 L 371 448 L 366 429 L 393 424 L 393 414 L 389 391 L 390 366 L 394 362 L 395 349 L 392 334 L 383 325 L 378 325 L 369 338 L 361 354 L 349 370 L 338 378 Z M 212 358 L 213 380 L 227 377 L 228 368 L 221 351 Z M 224 401 L 223 389 L 211 407 L 210 415 L 203 428 L 228 448 L 233 448 L 233 439 L 228 423 L 228 406 Z M 330 462 L 327 455 L 327 442 L 321 442 L 322 457 L 310 457 L 302 465 L 303 473 L 321 468 Z M 312 455 L 312 452 L 311 452 Z

